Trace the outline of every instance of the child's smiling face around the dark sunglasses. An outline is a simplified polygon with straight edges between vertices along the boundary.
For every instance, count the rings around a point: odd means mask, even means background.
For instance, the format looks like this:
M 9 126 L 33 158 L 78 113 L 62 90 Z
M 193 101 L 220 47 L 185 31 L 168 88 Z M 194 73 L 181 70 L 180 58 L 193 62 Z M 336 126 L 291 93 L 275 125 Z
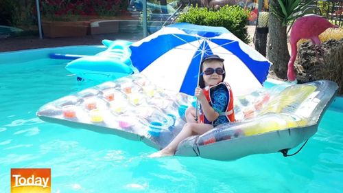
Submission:
M 206 60 L 204 61 L 204 63 L 202 64 L 202 72 L 206 71 L 206 69 L 217 69 L 223 68 L 223 63 L 219 60 Z M 204 78 L 204 82 L 205 82 L 205 86 L 213 86 L 216 85 L 220 82 L 222 82 L 223 80 L 223 75 L 219 75 L 216 72 L 206 75 L 203 74 L 202 77 Z

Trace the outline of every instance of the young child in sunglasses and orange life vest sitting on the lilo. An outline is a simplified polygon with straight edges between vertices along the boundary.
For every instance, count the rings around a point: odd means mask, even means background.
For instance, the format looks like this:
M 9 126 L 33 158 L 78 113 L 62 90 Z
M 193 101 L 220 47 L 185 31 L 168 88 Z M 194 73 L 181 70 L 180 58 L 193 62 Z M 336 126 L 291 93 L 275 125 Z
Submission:
M 200 102 L 199 118 L 196 121 L 196 109 L 186 110 L 187 123 L 178 135 L 162 150 L 150 157 L 164 157 L 175 154 L 178 144 L 192 135 L 202 135 L 213 127 L 235 121 L 233 112 L 233 93 L 225 78 L 224 59 L 217 55 L 205 56 L 200 65 L 199 86 L 195 96 Z

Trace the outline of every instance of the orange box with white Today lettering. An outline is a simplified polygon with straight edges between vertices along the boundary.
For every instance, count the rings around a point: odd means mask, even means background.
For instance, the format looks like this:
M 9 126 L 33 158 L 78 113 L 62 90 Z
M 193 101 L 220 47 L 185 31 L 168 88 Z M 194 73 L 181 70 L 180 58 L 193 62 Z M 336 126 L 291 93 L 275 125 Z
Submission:
M 50 168 L 12 168 L 11 193 L 51 193 Z

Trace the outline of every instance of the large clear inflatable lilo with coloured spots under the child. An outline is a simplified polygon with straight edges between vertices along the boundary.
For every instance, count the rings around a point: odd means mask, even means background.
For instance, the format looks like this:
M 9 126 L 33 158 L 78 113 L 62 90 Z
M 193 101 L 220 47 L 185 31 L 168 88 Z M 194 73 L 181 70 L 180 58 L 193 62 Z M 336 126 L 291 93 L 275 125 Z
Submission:
M 290 84 L 289 84 L 290 85 Z M 335 82 L 279 85 L 235 98 L 237 122 L 182 141 L 176 155 L 233 160 L 294 148 L 316 133 Z M 47 122 L 113 133 L 161 149 L 185 124 L 193 97 L 155 87 L 139 73 L 99 84 L 42 106 Z

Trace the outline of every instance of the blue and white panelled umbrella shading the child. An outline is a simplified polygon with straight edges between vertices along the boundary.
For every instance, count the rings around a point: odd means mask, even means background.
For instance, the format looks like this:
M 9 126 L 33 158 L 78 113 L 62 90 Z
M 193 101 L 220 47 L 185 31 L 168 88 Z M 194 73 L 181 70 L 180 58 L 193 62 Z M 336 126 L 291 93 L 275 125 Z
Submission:
M 176 23 L 130 45 L 134 67 L 160 87 L 193 95 L 201 59 L 224 58 L 225 81 L 243 95 L 266 80 L 270 62 L 224 27 Z

